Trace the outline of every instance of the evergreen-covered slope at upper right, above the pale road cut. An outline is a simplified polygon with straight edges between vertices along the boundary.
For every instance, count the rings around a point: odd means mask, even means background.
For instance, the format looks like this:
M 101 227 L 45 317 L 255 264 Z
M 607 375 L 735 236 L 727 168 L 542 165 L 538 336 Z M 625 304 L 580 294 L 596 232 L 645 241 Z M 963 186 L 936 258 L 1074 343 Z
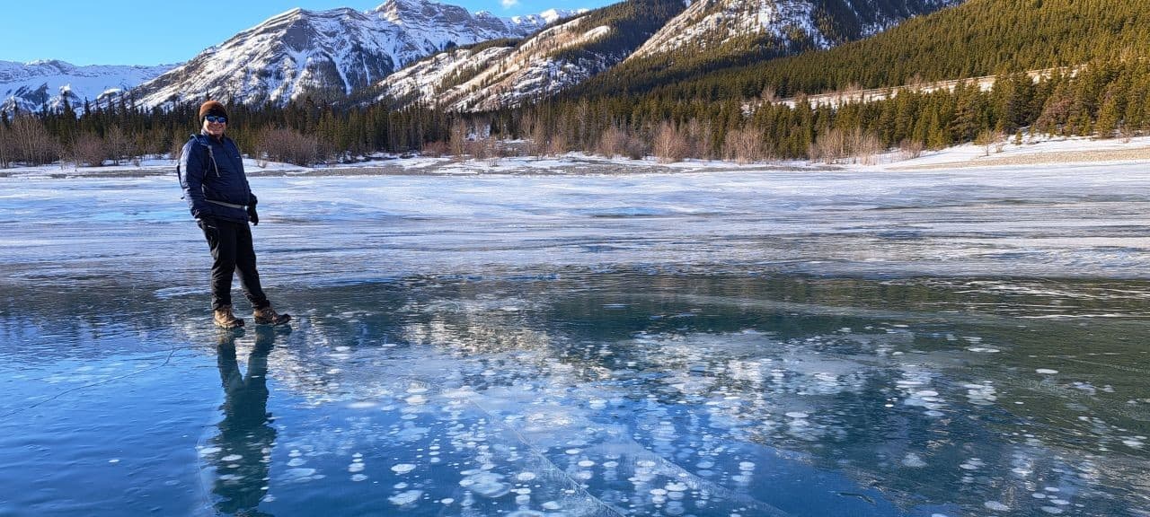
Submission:
M 674 99 L 781 97 L 989 76 L 1150 54 L 1150 5 L 1129 0 L 968 0 L 872 38 L 667 80 L 620 69 L 572 91 Z M 730 56 L 716 60 L 730 62 Z M 707 55 L 693 61 L 708 62 Z M 644 87 L 645 85 L 645 87 Z

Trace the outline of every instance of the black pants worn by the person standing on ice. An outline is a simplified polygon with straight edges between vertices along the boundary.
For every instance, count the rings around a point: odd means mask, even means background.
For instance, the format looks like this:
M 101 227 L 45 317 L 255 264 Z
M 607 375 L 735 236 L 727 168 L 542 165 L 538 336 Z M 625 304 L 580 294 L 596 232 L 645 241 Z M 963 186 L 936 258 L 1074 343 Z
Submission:
M 198 221 L 212 249 L 212 308 L 231 304 L 231 273 L 239 272 L 239 285 L 252 307 L 262 309 L 271 304 L 260 287 L 255 270 L 255 249 L 252 248 L 252 227 L 246 222 L 210 219 Z

